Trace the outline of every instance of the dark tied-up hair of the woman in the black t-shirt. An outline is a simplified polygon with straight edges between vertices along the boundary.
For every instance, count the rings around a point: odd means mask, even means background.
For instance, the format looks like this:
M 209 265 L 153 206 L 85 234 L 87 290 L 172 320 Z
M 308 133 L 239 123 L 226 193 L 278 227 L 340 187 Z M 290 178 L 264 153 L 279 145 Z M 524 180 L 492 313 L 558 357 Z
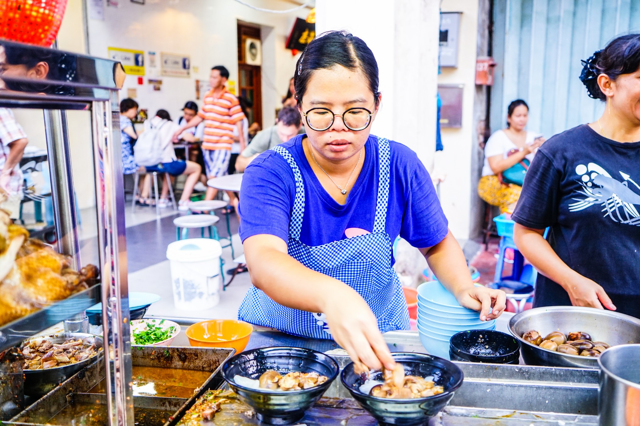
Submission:
M 587 87 L 588 95 L 593 99 L 607 100 L 598 86 L 598 75 L 606 74 L 615 81 L 622 74 L 636 72 L 640 68 L 640 34 L 614 38 L 607 47 L 594 52 L 582 63 L 580 81 Z

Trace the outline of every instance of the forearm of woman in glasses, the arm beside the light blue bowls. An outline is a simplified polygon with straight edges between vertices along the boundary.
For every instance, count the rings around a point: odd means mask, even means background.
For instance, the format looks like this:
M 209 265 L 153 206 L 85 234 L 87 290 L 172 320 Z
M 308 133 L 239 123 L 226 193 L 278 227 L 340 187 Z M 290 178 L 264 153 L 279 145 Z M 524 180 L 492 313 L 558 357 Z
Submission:
M 451 231 L 440 243 L 420 251 L 427 259 L 431 271 L 449 293 L 455 296 L 465 289 L 473 288 L 465 254 Z

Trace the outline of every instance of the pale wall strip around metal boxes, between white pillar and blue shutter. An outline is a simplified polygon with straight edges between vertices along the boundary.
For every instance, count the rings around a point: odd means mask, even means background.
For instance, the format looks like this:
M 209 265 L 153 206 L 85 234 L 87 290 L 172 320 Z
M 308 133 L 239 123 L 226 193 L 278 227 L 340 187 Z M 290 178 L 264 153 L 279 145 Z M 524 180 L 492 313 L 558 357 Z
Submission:
M 463 84 L 461 128 L 442 128 L 444 151 L 435 156 L 434 174 L 443 174 L 440 204 L 449 219 L 451 232 L 458 240 L 467 240 L 470 230 L 471 155 L 474 141 L 474 96 L 476 84 L 476 42 L 478 2 L 442 0 L 442 11 L 461 11 L 458 68 L 442 68 L 439 84 Z

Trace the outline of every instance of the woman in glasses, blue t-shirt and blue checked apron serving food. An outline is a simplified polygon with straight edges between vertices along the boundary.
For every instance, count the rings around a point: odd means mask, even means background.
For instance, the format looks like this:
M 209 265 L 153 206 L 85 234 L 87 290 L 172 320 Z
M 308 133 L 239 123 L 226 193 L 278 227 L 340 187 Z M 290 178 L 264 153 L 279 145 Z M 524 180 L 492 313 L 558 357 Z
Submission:
M 474 287 L 424 165 L 403 144 L 369 134 L 381 99 L 369 47 L 326 33 L 309 43 L 294 78 L 307 134 L 244 173 L 239 233 L 255 287 L 239 318 L 335 339 L 357 363 L 392 367 L 380 332 L 409 328 L 392 269 L 398 235 L 461 305 L 483 320 L 499 316 L 505 295 Z

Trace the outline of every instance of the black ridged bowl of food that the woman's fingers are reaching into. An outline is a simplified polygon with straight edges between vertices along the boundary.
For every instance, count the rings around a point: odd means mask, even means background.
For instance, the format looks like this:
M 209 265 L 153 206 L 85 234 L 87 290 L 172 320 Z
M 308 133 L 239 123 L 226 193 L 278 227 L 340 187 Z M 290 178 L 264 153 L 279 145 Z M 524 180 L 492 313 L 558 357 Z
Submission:
M 340 375 L 342 384 L 381 425 L 412 426 L 427 423 L 429 418 L 438 414 L 449 403 L 454 391 L 462 384 L 462 370 L 451 361 L 426 354 L 398 352 L 394 353 L 393 357 L 394 360 L 402 363 L 404 374 L 420 377 L 433 376 L 435 384 L 444 387 L 444 393 L 415 399 L 372 397 L 360 392 L 360 385 L 364 381 L 353 371 L 353 363 L 349 363 L 342 370 Z M 378 371 L 370 377 L 382 381 L 381 376 L 382 372 Z

